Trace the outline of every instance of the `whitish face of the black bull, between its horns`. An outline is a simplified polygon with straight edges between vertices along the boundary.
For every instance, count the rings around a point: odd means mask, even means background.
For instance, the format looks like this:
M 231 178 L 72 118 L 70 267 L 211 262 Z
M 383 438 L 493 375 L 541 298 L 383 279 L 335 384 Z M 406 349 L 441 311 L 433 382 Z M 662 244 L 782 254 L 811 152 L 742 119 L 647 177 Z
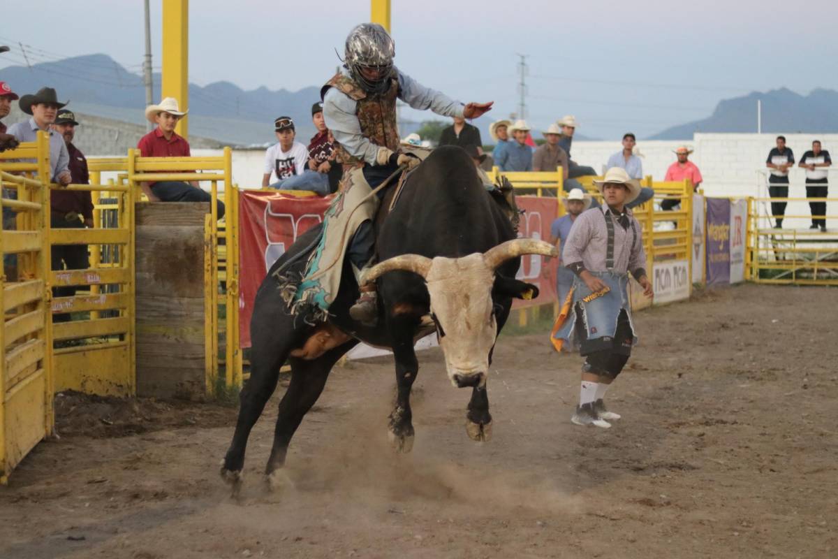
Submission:
M 489 351 L 498 334 L 492 301 L 494 270 L 482 254 L 437 256 L 425 280 L 431 312 L 442 328 L 439 344 L 448 378 L 454 386 L 464 386 L 463 381 L 469 380 L 484 386 Z

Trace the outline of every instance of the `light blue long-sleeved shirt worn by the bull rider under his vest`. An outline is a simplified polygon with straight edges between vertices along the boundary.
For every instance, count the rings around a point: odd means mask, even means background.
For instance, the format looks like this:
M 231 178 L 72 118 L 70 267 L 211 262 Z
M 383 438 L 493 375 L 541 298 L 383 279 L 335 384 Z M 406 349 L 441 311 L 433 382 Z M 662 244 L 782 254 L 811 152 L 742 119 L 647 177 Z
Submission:
M 340 71 L 349 75 L 349 70 L 345 68 Z M 396 69 L 396 74 L 399 79 L 399 99 L 412 108 L 422 111 L 431 109 L 440 116 L 463 116 L 463 103 L 425 87 L 401 70 Z M 323 118 L 334 139 L 350 155 L 375 165 L 375 156 L 383 146 L 370 142 L 370 138 L 361 133 L 361 125 L 355 115 L 357 108 L 357 101 L 336 87 L 330 87 L 323 96 Z

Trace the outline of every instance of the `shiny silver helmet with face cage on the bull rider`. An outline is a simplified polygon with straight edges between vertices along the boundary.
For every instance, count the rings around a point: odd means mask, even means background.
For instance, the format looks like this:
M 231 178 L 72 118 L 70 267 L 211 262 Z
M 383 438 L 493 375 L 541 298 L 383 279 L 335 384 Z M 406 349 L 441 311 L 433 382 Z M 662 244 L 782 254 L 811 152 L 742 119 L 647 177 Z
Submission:
M 356 25 L 346 38 L 344 64 L 352 78 L 367 93 L 387 91 L 394 56 L 396 56 L 396 42 L 378 23 Z M 378 77 L 375 80 L 365 77 L 361 71 L 365 67 L 378 70 Z

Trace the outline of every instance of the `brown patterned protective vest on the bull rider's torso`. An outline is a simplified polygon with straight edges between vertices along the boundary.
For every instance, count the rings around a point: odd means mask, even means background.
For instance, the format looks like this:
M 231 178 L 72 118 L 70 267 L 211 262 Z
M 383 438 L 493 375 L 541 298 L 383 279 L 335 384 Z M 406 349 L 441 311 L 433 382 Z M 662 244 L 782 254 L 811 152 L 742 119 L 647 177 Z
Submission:
M 399 79 L 394 69 L 390 77 L 390 87 L 381 94 L 370 95 L 361 89 L 352 78 L 338 72 L 331 80 L 323 85 L 320 98 L 326 96 L 329 87 L 337 88 L 349 99 L 357 104 L 355 116 L 361 127 L 361 135 L 382 148 L 390 148 L 394 152 L 400 150 L 399 128 L 396 122 L 396 99 L 399 95 Z M 364 164 L 359 158 L 350 155 L 346 149 L 335 142 L 338 156 L 337 161 L 344 166 L 361 166 Z

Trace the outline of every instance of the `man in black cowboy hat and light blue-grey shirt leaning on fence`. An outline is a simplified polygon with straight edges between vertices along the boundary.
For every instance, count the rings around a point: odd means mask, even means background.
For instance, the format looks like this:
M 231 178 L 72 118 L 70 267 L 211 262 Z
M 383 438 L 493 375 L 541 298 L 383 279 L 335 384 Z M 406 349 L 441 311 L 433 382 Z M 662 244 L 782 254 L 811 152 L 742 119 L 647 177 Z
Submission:
M 18 142 L 34 142 L 38 132 L 49 134 L 49 167 L 54 183 L 66 186 L 70 184 L 70 155 L 64 138 L 57 132 L 49 130 L 49 125 L 55 122 L 58 110 L 67 103 L 58 100 L 58 94 L 51 87 L 42 87 L 34 95 L 24 95 L 18 101 L 20 110 L 32 115 L 26 122 L 18 122 L 8 128 L 8 133 L 17 138 Z

